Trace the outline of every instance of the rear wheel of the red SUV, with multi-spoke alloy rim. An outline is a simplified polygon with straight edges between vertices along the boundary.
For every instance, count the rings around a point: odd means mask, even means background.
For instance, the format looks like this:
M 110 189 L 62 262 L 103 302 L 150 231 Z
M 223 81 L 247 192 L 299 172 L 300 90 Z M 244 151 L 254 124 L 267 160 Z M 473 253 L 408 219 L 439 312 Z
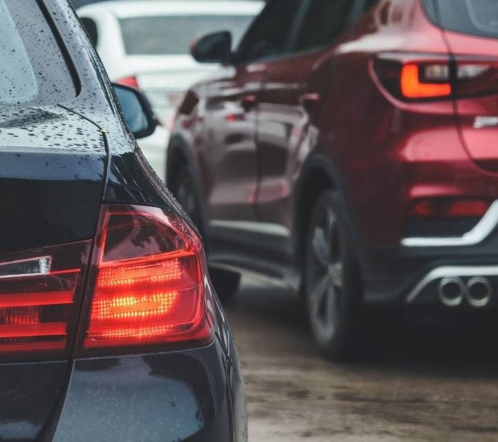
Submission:
M 334 360 L 371 356 L 361 271 L 342 203 L 333 191 L 324 191 L 315 202 L 304 253 L 308 318 L 320 352 Z

